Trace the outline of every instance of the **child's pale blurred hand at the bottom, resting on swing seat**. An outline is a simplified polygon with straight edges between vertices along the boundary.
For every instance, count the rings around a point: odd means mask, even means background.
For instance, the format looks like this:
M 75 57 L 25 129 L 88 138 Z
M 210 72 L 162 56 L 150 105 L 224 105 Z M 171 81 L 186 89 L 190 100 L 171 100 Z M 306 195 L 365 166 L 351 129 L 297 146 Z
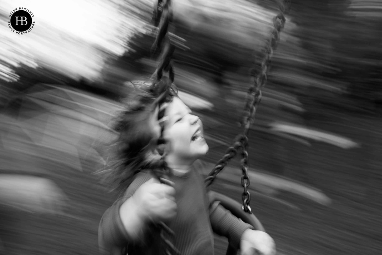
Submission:
M 241 255 L 275 255 L 276 245 L 269 234 L 247 229 L 240 239 L 240 251 Z

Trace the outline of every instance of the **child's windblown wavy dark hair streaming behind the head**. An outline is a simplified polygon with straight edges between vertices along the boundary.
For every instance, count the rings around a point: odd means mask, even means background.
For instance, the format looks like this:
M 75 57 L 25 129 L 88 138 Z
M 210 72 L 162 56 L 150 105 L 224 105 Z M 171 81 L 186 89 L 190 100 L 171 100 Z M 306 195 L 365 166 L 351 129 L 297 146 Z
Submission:
M 111 122 L 112 131 L 117 137 L 104 146 L 103 153 L 107 154 L 105 166 L 97 171 L 112 185 L 113 190 L 119 191 L 124 190 L 143 168 L 156 164 L 152 161 L 160 160 L 160 157 L 147 158 L 159 138 L 149 124 L 157 99 L 152 91 L 152 83 L 129 81 L 126 86 L 128 96 L 122 100 L 123 108 Z

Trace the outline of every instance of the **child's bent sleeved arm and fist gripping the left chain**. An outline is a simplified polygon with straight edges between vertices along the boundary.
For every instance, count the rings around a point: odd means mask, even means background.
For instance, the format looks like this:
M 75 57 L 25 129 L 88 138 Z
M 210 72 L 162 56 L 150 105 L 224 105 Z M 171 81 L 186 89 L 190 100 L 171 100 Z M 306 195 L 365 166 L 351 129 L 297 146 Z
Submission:
M 148 174 L 139 174 L 125 197 L 104 213 L 99 225 L 100 249 L 121 252 L 128 242 L 142 242 L 149 223 L 175 216 L 174 195 L 173 187 L 159 184 Z

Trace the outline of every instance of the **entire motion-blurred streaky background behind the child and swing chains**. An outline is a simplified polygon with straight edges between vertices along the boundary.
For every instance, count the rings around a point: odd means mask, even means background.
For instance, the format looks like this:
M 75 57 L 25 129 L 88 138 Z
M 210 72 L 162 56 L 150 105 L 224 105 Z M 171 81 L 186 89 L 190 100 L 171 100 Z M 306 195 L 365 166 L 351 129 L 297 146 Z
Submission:
M 0 254 L 98 254 L 118 194 L 94 171 L 123 83 L 150 75 L 153 0 L 0 1 Z M 28 34 L 8 28 L 25 7 Z M 180 96 L 206 173 L 238 133 L 271 0 L 173 0 Z M 292 0 L 249 133 L 251 207 L 279 254 L 382 251 L 382 1 Z M 241 200 L 240 163 L 212 189 Z M 216 237 L 216 254 L 226 241 Z

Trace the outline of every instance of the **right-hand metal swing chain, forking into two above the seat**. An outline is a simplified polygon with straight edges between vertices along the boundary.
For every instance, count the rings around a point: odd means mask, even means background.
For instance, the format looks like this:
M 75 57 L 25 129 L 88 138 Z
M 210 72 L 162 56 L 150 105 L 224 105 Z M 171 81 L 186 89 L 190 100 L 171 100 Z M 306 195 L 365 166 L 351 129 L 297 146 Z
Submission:
M 226 154 L 220 159 L 216 164 L 214 169 L 208 174 L 206 178 L 206 185 L 209 186 L 214 182 L 216 175 L 227 165 L 228 161 L 231 158 L 235 157 L 238 149 L 241 149 L 241 185 L 243 186 L 242 200 L 243 200 L 243 210 L 247 213 L 251 213 L 251 207 L 249 202 L 251 201 L 251 194 L 248 191 L 250 182 L 248 176 L 248 132 L 251 127 L 256 114 L 256 109 L 261 101 L 261 90 L 264 88 L 267 83 L 267 72 L 270 69 L 270 62 L 273 56 L 273 52 L 277 47 L 277 43 L 280 40 L 280 31 L 284 28 L 285 16 L 284 13 L 287 13 L 290 8 L 290 0 L 280 0 L 279 1 L 280 13 L 276 15 L 273 19 L 274 30 L 267 44 L 263 50 L 263 58 L 261 62 L 261 70 L 259 73 L 256 73 L 257 68 L 250 69 L 250 75 L 252 76 L 251 80 L 253 85 L 248 89 L 246 96 L 246 104 L 242 114 L 241 126 L 243 127 L 243 133 L 238 135 L 235 139 L 234 145 L 229 147 Z

